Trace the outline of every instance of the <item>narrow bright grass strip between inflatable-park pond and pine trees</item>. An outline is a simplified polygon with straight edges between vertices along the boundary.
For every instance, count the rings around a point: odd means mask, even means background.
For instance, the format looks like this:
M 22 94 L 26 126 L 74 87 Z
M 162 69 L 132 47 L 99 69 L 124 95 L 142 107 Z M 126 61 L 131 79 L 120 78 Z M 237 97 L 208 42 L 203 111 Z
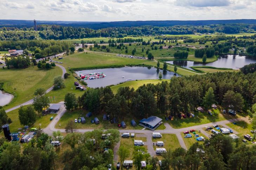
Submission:
M 125 82 L 125 83 L 122 83 L 122 84 L 118 84 L 118 85 L 115 85 L 115 86 L 111 86 L 110 88 L 112 89 L 113 93 L 117 93 L 117 90 L 119 87 L 126 87 L 126 86 L 129 86 L 130 88 L 134 88 L 135 90 L 139 87 L 139 86 L 142 86 L 143 84 L 157 84 L 157 83 L 161 83 L 162 81 L 170 81 L 168 79 L 162 79 L 162 80 L 159 80 L 159 79 L 156 79 L 156 80 L 138 80 L 138 81 L 129 81 L 129 82 Z

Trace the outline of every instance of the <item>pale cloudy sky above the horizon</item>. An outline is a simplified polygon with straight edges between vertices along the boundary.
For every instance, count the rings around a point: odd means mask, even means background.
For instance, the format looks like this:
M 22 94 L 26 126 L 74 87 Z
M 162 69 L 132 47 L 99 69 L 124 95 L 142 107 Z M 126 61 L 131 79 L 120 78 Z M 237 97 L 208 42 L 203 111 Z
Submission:
M 256 0 L 0 0 L 0 19 L 51 21 L 256 19 Z

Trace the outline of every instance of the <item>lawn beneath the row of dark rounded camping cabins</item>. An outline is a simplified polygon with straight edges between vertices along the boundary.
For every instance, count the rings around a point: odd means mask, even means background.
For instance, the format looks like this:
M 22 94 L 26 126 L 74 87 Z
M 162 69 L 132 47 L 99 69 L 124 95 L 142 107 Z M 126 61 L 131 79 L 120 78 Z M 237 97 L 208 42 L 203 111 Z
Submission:
M 103 114 L 98 115 L 92 115 L 90 118 L 86 118 L 85 115 L 88 113 L 88 111 L 83 109 L 76 109 L 74 111 L 67 111 L 59 120 L 59 122 L 56 124 L 56 128 L 64 129 L 69 121 L 74 121 L 75 119 L 78 119 L 80 116 L 84 117 L 86 122 L 85 123 L 77 123 L 78 129 L 98 129 L 98 128 L 104 128 L 104 129 L 142 129 L 143 127 L 138 125 L 139 120 L 136 118 L 132 118 L 132 116 L 126 116 L 124 119 L 119 120 L 119 124 L 121 121 L 124 121 L 126 124 L 126 128 L 118 127 L 118 124 L 116 123 L 110 123 L 110 121 L 103 120 Z M 98 125 L 95 123 L 91 123 L 91 119 L 94 119 L 97 117 L 100 121 Z M 112 119 L 112 118 L 110 118 Z M 137 123 L 137 126 L 131 125 L 131 120 L 134 119 Z M 60 124 L 60 126 L 59 126 Z

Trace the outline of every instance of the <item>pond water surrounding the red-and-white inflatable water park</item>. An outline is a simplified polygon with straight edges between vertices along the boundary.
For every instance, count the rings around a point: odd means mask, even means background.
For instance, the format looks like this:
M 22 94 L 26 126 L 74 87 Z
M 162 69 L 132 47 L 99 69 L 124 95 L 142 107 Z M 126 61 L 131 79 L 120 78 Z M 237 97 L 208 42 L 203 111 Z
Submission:
M 88 87 L 105 87 L 132 80 L 158 79 L 157 69 L 149 69 L 147 67 L 123 67 L 76 71 L 77 75 L 80 75 L 80 73 L 85 75 L 94 72 L 103 72 L 106 75 L 106 77 L 99 79 L 84 80 L 88 84 Z M 162 70 L 160 70 L 159 72 L 162 72 Z M 175 73 L 168 71 L 165 75 L 163 75 L 163 79 L 170 79 L 170 77 L 174 76 L 174 74 Z

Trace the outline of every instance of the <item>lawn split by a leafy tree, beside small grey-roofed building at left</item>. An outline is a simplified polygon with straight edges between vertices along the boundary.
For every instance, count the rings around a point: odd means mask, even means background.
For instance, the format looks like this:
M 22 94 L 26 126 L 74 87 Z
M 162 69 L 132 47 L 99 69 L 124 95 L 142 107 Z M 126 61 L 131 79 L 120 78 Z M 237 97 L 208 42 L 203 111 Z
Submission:
M 29 105 L 27 105 L 27 106 L 29 106 Z M 25 108 L 27 107 L 27 106 L 24 106 Z M 34 123 L 34 125 L 32 125 L 32 126 L 30 126 L 29 128 L 31 128 L 31 127 L 35 127 L 35 128 L 46 128 L 47 126 L 48 126 L 48 124 L 50 123 L 50 118 L 53 116 L 53 117 L 55 117 L 57 114 L 47 114 L 46 116 L 41 116 L 41 118 L 40 118 L 40 116 L 38 115 L 37 116 L 37 120 L 36 120 L 36 122 Z M 11 111 L 11 112 L 8 112 L 7 113 L 7 116 L 9 117 L 9 118 L 11 118 L 11 120 L 12 120 L 12 123 L 10 124 L 10 131 L 11 131 L 11 133 L 14 133 L 14 132 L 21 132 L 22 131 L 22 129 L 21 130 L 19 130 L 19 128 L 24 128 L 24 126 L 23 125 L 20 125 L 20 121 L 19 121 L 19 108 L 18 109 L 15 109 L 15 110 L 13 110 L 13 111 Z M 41 126 L 40 126 L 40 124 L 41 124 Z

